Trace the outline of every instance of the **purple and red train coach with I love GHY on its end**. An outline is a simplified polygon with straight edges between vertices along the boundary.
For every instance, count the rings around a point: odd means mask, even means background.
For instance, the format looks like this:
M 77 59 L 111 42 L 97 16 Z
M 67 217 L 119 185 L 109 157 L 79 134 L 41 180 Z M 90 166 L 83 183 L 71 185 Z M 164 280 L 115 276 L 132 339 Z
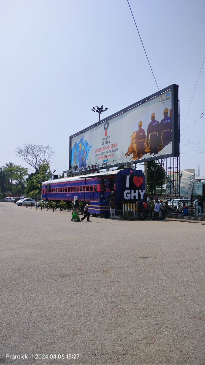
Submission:
M 89 211 L 109 214 L 109 200 L 114 197 L 116 208 L 123 203 L 144 199 L 145 176 L 142 170 L 123 169 L 45 181 L 42 199 L 90 201 Z

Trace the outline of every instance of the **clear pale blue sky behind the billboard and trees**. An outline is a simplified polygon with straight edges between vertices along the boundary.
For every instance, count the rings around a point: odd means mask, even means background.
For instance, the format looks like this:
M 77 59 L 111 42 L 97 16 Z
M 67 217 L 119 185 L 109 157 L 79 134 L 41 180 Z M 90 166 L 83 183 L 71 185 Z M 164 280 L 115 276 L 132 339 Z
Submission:
M 179 85 L 181 128 L 205 57 L 205 1 L 129 0 L 159 89 Z M 157 91 L 127 0 L 0 1 L 0 166 L 23 143 L 69 164 L 69 136 Z M 205 110 L 205 62 L 183 128 Z M 181 130 L 180 167 L 205 176 L 205 115 Z M 122 137 L 123 138 L 123 137 Z M 202 151 L 200 148 L 204 151 Z M 31 171 L 31 170 L 30 170 Z

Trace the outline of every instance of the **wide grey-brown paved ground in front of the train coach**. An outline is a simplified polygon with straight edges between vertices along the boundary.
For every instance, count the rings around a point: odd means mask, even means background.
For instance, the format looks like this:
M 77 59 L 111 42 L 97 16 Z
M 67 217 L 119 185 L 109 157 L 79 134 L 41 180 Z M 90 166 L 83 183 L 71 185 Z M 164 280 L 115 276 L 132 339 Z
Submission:
M 70 219 L 0 203 L 0 364 L 204 364 L 205 226 Z

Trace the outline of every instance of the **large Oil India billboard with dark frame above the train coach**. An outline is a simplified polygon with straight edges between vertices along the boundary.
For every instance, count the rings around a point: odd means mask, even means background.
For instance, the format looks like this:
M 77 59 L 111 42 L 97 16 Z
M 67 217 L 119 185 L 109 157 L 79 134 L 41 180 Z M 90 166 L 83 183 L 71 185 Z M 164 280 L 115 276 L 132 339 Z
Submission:
M 69 168 L 179 156 L 179 87 L 169 87 L 70 136 Z

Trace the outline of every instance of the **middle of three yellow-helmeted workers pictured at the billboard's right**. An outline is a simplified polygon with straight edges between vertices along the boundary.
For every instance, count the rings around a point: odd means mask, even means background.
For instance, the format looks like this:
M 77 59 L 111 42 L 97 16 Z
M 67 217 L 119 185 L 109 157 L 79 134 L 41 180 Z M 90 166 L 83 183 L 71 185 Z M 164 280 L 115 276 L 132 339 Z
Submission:
M 151 114 L 151 122 L 147 127 L 147 146 L 149 145 L 150 136 L 150 155 L 156 155 L 158 151 L 158 142 L 160 143 L 161 129 L 158 120 L 155 120 L 155 113 Z

